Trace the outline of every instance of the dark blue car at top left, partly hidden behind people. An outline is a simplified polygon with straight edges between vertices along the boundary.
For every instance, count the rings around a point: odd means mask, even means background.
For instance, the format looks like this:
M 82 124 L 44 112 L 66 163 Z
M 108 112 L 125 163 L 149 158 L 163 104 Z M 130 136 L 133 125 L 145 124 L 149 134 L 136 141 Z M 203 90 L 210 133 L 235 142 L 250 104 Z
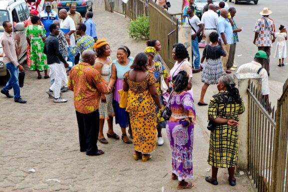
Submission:
M 81 13 L 84 17 L 87 11 L 92 11 L 92 0 L 59 0 L 58 1 L 58 11 L 62 8 L 69 10 L 69 5 L 75 4 L 76 11 Z

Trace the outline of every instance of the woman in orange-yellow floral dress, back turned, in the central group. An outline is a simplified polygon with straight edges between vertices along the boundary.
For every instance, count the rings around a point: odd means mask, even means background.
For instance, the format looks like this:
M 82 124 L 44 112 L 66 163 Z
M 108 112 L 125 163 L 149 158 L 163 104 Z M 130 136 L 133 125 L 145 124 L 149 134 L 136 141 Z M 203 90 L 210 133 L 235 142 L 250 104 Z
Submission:
M 126 111 L 129 112 L 135 160 L 151 158 L 156 147 L 156 106 L 161 108 L 154 76 L 147 72 L 148 57 L 144 52 L 134 58 L 131 70 L 123 77 L 123 90 L 128 91 Z M 155 106 L 156 103 L 156 106 Z

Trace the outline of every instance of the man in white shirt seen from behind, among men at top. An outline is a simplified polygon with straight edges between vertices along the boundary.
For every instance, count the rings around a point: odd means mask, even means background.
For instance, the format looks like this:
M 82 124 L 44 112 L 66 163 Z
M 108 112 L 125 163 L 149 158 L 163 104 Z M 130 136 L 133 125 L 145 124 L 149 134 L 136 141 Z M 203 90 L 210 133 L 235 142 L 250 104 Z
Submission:
M 203 37 L 206 37 L 205 44 L 210 43 L 209 34 L 217 32 L 218 14 L 216 6 L 213 3 L 208 5 L 208 10 L 204 12 L 201 18 L 201 23 L 204 25 Z

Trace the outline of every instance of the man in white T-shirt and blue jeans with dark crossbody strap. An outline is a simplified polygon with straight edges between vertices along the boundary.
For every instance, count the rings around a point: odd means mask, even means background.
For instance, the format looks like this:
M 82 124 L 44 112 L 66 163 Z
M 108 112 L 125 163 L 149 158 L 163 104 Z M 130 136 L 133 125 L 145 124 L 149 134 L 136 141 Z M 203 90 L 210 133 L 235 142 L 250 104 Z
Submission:
M 197 69 L 200 68 L 200 53 L 198 46 L 198 34 L 203 30 L 203 24 L 200 19 L 194 14 L 194 6 L 187 6 L 187 14 L 188 16 L 185 18 L 185 24 L 191 26 L 191 47 L 192 47 L 192 66 Z M 195 60 L 193 62 L 193 57 L 195 56 Z M 193 64 L 194 63 L 194 64 Z

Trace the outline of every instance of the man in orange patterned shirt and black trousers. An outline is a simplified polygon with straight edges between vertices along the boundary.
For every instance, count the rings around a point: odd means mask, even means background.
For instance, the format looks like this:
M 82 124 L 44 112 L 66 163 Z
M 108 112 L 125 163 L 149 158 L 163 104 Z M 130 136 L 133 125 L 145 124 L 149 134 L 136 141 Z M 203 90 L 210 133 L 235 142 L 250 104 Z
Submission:
M 105 80 L 93 68 L 96 56 L 92 50 L 84 50 L 81 62 L 72 67 L 68 87 L 74 91 L 74 105 L 79 129 L 80 151 L 87 155 L 100 155 L 104 151 L 98 149 L 99 102 L 101 93 L 110 90 Z

